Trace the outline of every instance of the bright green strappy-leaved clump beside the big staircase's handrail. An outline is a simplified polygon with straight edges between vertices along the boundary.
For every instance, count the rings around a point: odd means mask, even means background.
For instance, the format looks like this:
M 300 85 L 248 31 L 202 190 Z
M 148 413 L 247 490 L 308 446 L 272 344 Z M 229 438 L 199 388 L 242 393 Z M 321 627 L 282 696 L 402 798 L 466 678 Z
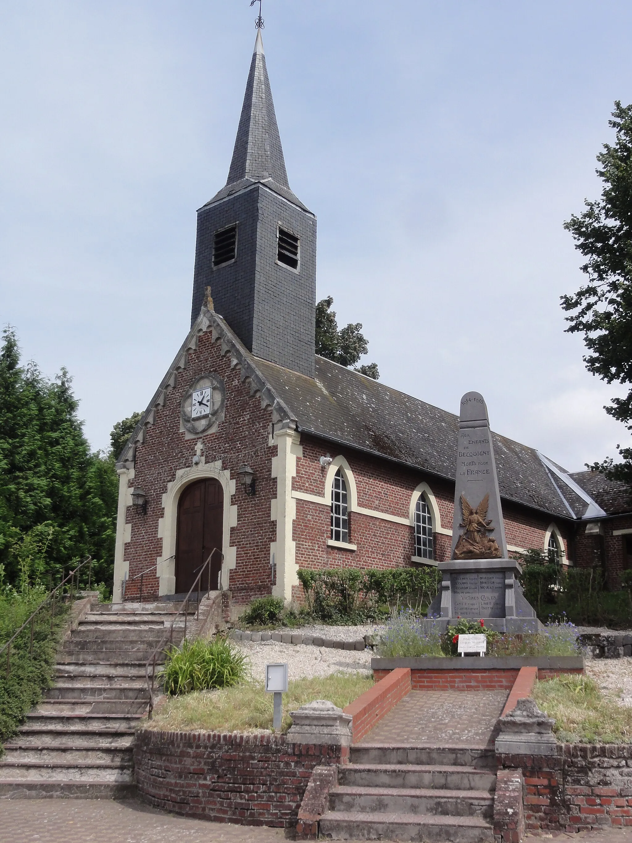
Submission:
M 237 685 L 245 678 L 246 667 L 244 654 L 225 638 L 193 643 L 185 639 L 181 647 L 167 655 L 160 679 L 165 694 L 188 694 L 192 690 Z

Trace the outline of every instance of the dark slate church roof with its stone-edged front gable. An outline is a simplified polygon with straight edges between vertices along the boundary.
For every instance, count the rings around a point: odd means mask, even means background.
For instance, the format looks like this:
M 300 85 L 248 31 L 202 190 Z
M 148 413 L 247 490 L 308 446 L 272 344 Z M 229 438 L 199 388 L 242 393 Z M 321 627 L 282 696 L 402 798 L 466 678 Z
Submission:
M 454 481 L 458 416 L 324 357 L 316 357 L 313 379 L 254 357 L 224 319 L 206 308 L 201 309 L 191 326 L 123 448 L 117 466 L 134 464 L 136 444 L 144 441 L 144 428 L 154 423 L 156 411 L 164 404 L 165 392 L 174 386 L 177 373 L 186 368 L 188 352 L 197 347 L 197 335 L 209 330 L 214 340 L 221 339 L 222 353 L 233 355 L 242 380 L 250 379 L 252 394 L 260 395 L 262 405 L 270 405 L 276 418 L 296 423 L 300 431 L 329 442 L 358 448 Z M 498 483 L 506 501 L 555 518 L 581 518 L 589 504 L 569 485 L 574 482 L 606 513 L 632 512 L 632 501 L 623 484 L 607 481 L 592 471 L 569 475 L 551 463 L 558 470 L 555 474 L 535 448 L 494 432 L 492 439 Z

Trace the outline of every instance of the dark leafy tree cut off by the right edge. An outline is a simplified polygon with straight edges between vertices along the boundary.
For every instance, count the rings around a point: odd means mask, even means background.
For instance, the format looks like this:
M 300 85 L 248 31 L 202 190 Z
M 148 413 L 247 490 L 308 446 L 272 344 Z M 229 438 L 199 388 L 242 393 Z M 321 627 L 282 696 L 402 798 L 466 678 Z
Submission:
M 573 214 L 564 226 L 586 257 L 581 271 L 588 280 L 561 299 L 570 313 L 566 330 L 583 334 L 591 352 L 583 358 L 588 371 L 607 384 L 632 384 L 632 105 L 617 100 L 608 125 L 615 139 L 597 155 L 601 199 L 586 199 L 586 211 Z M 632 389 L 605 410 L 632 430 Z M 632 448 L 617 448 L 623 462 L 609 458 L 588 467 L 632 482 Z

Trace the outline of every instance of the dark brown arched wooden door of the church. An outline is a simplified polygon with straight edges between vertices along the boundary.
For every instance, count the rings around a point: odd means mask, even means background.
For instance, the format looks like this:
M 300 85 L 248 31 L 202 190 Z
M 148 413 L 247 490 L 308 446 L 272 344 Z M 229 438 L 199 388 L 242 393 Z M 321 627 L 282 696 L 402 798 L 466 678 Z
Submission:
M 178 527 L 175 543 L 175 592 L 187 593 L 195 582 L 200 566 L 214 547 L 220 550 L 212 558 L 211 588 L 217 588 L 222 567 L 224 491 L 217 480 L 199 480 L 186 486 L 178 502 Z M 201 588 L 206 588 L 206 572 Z

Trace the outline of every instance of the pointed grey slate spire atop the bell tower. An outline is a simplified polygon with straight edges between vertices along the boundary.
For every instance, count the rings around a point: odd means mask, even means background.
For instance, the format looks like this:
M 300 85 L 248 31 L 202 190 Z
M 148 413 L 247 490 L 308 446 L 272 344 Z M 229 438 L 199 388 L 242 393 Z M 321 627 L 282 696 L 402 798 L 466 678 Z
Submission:
M 261 30 L 257 30 L 227 185 L 272 180 L 289 190 Z

